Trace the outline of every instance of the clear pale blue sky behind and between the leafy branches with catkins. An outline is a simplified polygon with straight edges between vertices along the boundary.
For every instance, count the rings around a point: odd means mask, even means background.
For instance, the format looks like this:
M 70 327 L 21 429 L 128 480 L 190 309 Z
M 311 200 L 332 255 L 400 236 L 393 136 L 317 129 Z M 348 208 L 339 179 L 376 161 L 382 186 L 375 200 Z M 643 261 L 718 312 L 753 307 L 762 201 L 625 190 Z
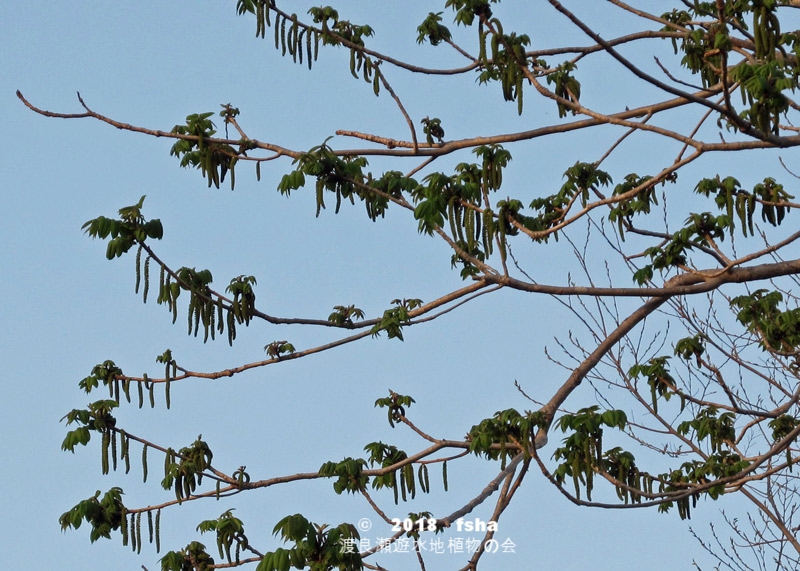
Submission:
M 338 7 L 342 17 L 373 25 L 376 49 L 395 50 L 427 65 L 461 64 L 446 48 L 419 47 L 414 41 L 416 26 L 428 11 L 442 10 L 440 4 L 400 7 L 353 1 Z M 539 4 L 526 6 L 506 27 L 528 31 L 529 23 L 539 46 L 583 42 Z M 305 8 L 297 11 L 302 14 Z M 58 516 L 96 489 L 120 485 L 131 506 L 170 497 L 158 486 L 160 458 L 155 454 L 150 460 L 153 475 L 143 486 L 136 462 L 127 477 L 101 476 L 96 443 L 75 455 L 60 451 L 65 429 L 58 421 L 88 402 L 77 382 L 95 363 L 112 359 L 131 374 L 156 374 L 160 367 L 155 356 L 171 348 L 182 365 L 217 370 L 262 359 L 263 346 L 275 339 L 288 339 L 297 347 L 333 339 L 327 331 L 257 324 L 241 329 L 233 348 L 220 340 L 203 345 L 202 339 L 185 335 L 183 315 L 172 326 L 162 307 L 152 300 L 142 305 L 133 293 L 132 256 L 105 260 L 105 246 L 81 231 L 86 220 L 112 216 L 147 195 L 145 215 L 160 218 L 165 227 L 164 240 L 156 244 L 163 259 L 176 267 L 207 267 L 218 286 L 240 274 L 255 275 L 259 305 L 272 314 L 325 317 L 334 305 L 355 303 L 376 315 L 393 298 L 427 301 L 461 284 L 457 271 L 450 270 L 444 244 L 418 235 L 416 222 L 405 212 L 390 211 L 385 220 L 372 223 L 356 205 L 339 215 L 325 211 L 315 218 L 313 193 L 280 196 L 275 188 L 290 168 L 288 160 L 264 165 L 261 182 L 242 166 L 235 191 L 207 189 L 199 173 L 180 169 L 169 156 L 169 141 L 88 119 L 46 119 L 14 95 L 19 89 L 41 108 L 75 113 L 81 111 L 75 96 L 80 91 L 100 113 L 163 130 L 190 113 L 217 112 L 220 104 L 231 103 L 240 108 L 240 123 L 250 136 L 300 150 L 321 143 L 336 129 L 407 137 L 391 99 L 374 97 L 368 85 L 349 76 L 344 52 L 323 50 L 309 72 L 279 57 L 270 38 L 254 38 L 254 28 L 252 19 L 236 16 L 232 1 L 0 4 L 0 105 L 6 121 L 6 137 L 0 141 L 5 385 L 0 400 L 0 533 L 7 538 L 5 568 L 83 569 L 89 561 L 110 570 L 158 568 L 160 556 L 150 545 L 135 555 L 118 537 L 90 547 L 85 527 L 63 534 L 59 529 Z M 472 33 L 466 37 L 471 39 Z M 663 46 L 664 53 L 668 47 Z M 387 74 L 409 113 L 417 121 L 441 117 L 448 138 L 557 120 L 555 107 L 532 94 L 525 113 L 517 117 L 516 106 L 502 102 L 499 88 L 479 87 L 473 77 L 437 84 L 393 69 Z M 624 74 L 613 66 L 586 69 L 585 74 L 587 100 L 601 109 L 619 108 L 618 100 L 604 99 L 603 85 L 624 84 Z M 633 106 L 648 93 L 632 89 L 629 95 Z M 678 114 L 675 120 L 680 120 Z M 598 130 L 511 147 L 508 193 L 532 197 L 557 188 L 564 169 L 579 159 L 596 159 L 614 137 Z M 646 143 L 623 146 L 609 168 L 624 176 L 671 160 L 668 150 L 660 154 Z M 339 148 L 353 143 L 337 137 L 331 144 Z M 445 157 L 436 168 L 446 170 L 467 157 Z M 777 157 L 766 153 L 754 161 L 762 170 L 778 165 Z M 415 166 L 372 159 L 370 164 L 375 172 Z M 698 169 L 716 171 L 722 164 L 709 159 Z M 755 168 L 737 167 L 744 176 Z M 520 247 L 520 252 L 528 256 L 537 278 L 552 283 L 566 279 L 563 260 L 569 248 L 563 243 Z M 244 464 L 260 478 L 312 471 L 324 461 L 360 455 L 363 445 L 374 440 L 409 451 L 422 446 L 412 435 L 386 426 L 384 413 L 373 408 L 375 399 L 390 388 L 412 395 L 417 400 L 412 419 L 447 438 L 462 438 L 496 410 L 531 408 L 514 380 L 534 397 L 547 398 L 563 372 L 547 361 L 543 347 L 552 348 L 554 336 L 564 336 L 574 325 L 551 300 L 503 292 L 413 328 L 404 343 L 366 339 L 234 379 L 179 383 L 173 388 L 171 411 L 159 402 L 155 410 L 126 407 L 118 416 L 131 432 L 175 448 L 202 433 L 215 451 L 215 465 L 223 470 Z M 592 398 L 586 390 L 575 408 Z M 445 513 L 460 506 L 494 473 L 494 466 L 481 461 L 465 462 L 460 469 L 454 464 L 450 493 L 433 496 L 437 509 Z M 424 505 L 417 501 L 394 507 L 388 496 L 382 500 L 397 517 Z M 333 524 L 361 517 L 377 521 L 363 500 L 335 496 L 328 482 L 212 503 L 193 502 L 165 512 L 162 546 L 177 549 L 196 539 L 198 521 L 230 507 L 245 521 L 251 542 L 262 549 L 277 546 L 272 526 L 291 513 Z M 738 506 L 728 498 L 703 502 L 692 524 L 705 533 L 707 521 L 721 520 L 722 508 Z M 487 518 L 487 510 L 484 506 L 476 515 Z M 517 544 L 517 553 L 502 560 L 487 556 L 487 569 L 688 568 L 693 558 L 710 568 L 677 514 L 578 509 L 533 472 L 500 530 L 500 536 Z M 373 539 L 378 536 L 375 532 Z M 213 547 L 213 538 L 201 541 Z M 409 558 L 386 557 L 378 562 L 388 568 L 414 568 Z M 456 568 L 462 560 L 431 555 L 429 564 Z

